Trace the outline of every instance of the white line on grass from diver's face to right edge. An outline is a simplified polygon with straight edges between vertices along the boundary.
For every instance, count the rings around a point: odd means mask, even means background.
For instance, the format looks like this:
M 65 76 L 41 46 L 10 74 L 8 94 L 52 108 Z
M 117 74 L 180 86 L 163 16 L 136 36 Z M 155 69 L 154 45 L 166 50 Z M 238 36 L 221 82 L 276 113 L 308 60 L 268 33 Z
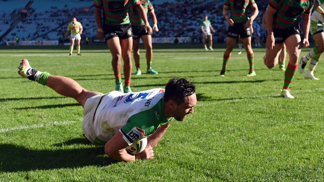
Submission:
M 310 90 L 310 89 L 298 90 L 298 91 L 293 91 L 292 93 L 294 95 L 294 93 L 311 93 L 311 92 L 318 92 L 318 91 L 324 91 L 324 88 L 317 88 L 317 89 L 313 89 L 313 90 Z M 252 97 L 249 97 L 249 98 L 235 98 L 235 99 L 227 99 L 227 100 L 214 100 L 214 101 L 207 102 L 207 103 L 200 103 L 200 104 L 198 103 L 196 105 L 196 107 L 218 104 L 219 102 L 236 102 L 236 101 L 242 101 L 242 100 L 249 100 L 249 99 L 253 99 L 253 98 L 274 97 L 274 96 L 280 96 L 280 93 L 272 94 L 272 95 L 258 95 L 258 96 L 252 96 Z M 298 98 L 295 98 L 295 99 L 298 99 Z M 208 100 L 206 100 L 206 101 L 208 101 Z

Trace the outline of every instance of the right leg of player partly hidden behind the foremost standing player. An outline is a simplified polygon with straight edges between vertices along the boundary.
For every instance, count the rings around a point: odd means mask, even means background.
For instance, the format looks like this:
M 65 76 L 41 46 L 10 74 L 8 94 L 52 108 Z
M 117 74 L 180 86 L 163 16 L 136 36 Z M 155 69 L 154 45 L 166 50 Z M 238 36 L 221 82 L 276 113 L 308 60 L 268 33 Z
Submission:
M 147 73 L 148 74 L 158 74 L 157 71 L 152 69 L 152 59 L 153 59 L 153 48 L 152 48 L 152 36 L 142 35 L 142 40 L 146 49 L 146 63 L 147 63 Z

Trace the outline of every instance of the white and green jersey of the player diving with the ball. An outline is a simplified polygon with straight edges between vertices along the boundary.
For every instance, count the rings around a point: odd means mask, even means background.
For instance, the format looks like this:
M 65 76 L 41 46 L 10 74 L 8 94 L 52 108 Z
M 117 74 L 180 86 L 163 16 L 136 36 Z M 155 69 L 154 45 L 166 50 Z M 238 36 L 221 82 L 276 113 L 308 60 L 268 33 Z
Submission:
M 171 122 L 172 118 L 165 118 L 163 107 L 164 89 L 111 91 L 98 105 L 93 122 L 96 136 L 108 141 L 119 131 L 128 144 L 138 141 Z

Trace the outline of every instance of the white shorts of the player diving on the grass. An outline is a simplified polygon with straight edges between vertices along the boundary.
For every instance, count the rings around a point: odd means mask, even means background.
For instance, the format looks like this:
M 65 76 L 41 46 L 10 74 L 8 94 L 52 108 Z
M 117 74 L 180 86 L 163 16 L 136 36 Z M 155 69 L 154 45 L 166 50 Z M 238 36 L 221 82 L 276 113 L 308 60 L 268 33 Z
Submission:
M 105 94 L 99 94 L 88 98 L 84 104 L 84 109 L 83 109 L 84 118 L 83 118 L 82 128 L 83 128 L 84 136 L 92 143 L 96 143 L 96 144 L 101 144 L 105 142 L 97 138 L 93 127 L 94 115 L 101 101 L 101 98 L 104 95 Z

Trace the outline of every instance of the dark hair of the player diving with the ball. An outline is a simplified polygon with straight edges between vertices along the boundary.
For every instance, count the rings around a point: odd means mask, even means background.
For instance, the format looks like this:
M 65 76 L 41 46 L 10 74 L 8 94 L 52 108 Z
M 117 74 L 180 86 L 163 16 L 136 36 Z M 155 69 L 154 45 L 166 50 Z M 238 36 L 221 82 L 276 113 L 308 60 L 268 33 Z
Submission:
M 173 100 L 177 104 L 184 102 L 184 97 L 192 95 L 195 86 L 184 78 L 170 79 L 165 86 L 164 101 Z

